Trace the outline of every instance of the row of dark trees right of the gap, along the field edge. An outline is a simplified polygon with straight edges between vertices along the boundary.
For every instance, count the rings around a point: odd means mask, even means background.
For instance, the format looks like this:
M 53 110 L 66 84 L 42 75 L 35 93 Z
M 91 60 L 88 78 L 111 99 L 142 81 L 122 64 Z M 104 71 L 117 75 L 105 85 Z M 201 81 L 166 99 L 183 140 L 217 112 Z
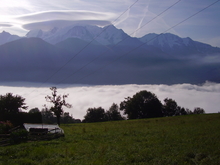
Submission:
M 188 114 L 203 114 L 202 108 L 195 108 L 194 111 L 178 106 L 175 100 L 170 98 L 164 99 L 164 104 L 160 102 L 157 96 L 149 91 L 140 91 L 127 97 L 120 103 L 113 104 L 108 111 L 101 107 L 89 108 L 87 114 L 84 116 L 84 122 L 101 122 L 112 120 L 123 120 L 120 111 L 127 117 L 127 119 L 142 119 L 155 117 L 168 117 Z

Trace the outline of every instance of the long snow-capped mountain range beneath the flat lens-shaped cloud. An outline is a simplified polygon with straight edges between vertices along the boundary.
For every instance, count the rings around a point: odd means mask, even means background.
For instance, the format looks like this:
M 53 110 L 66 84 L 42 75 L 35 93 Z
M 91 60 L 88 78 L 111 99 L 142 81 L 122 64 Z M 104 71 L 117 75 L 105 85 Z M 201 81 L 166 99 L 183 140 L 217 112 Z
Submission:
M 168 55 L 192 55 L 219 53 L 220 48 L 193 41 L 191 38 L 181 38 L 171 33 L 150 33 L 141 38 L 127 35 L 123 30 L 113 25 L 97 27 L 92 25 L 75 25 L 64 28 L 53 28 L 50 31 L 33 30 L 26 37 L 37 37 L 51 44 L 57 44 L 69 38 L 76 38 L 86 42 L 93 41 L 97 45 L 120 45 L 120 46 L 153 46 Z

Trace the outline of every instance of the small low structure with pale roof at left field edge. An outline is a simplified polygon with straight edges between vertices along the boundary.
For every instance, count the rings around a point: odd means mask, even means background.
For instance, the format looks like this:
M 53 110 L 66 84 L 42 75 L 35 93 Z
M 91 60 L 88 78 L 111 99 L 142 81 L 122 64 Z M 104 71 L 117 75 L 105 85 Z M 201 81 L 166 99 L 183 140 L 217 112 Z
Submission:
M 47 130 L 47 133 L 60 133 L 64 134 L 62 128 L 60 128 L 57 124 L 31 124 L 24 123 L 24 128 L 30 132 L 30 130 Z

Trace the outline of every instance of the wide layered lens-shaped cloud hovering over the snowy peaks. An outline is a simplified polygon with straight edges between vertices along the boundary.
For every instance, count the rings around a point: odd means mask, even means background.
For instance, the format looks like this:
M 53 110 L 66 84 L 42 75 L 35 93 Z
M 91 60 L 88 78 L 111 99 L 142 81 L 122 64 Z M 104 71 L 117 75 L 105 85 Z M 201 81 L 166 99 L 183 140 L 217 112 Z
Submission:
M 84 10 L 75 11 L 47 11 L 20 16 L 17 19 L 26 22 L 23 28 L 26 30 L 42 29 L 50 30 L 53 27 L 65 27 L 74 24 L 90 24 L 106 26 L 115 17 L 113 13 L 93 12 Z M 34 20 L 34 21 L 32 21 Z

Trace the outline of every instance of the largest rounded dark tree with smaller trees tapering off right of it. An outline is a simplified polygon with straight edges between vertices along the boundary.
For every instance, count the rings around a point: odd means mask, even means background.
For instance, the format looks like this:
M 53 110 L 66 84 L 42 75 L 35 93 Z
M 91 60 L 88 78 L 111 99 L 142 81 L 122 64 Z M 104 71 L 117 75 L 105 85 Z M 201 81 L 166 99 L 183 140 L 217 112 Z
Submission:
M 127 115 L 128 119 L 205 113 L 205 110 L 199 107 L 194 111 L 180 107 L 175 100 L 170 98 L 164 99 L 164 104 L 162 104 L 155 94 L 146 90 L 136 93 L 132 98 L 125 99 L 120 104 L 120 110 Z

